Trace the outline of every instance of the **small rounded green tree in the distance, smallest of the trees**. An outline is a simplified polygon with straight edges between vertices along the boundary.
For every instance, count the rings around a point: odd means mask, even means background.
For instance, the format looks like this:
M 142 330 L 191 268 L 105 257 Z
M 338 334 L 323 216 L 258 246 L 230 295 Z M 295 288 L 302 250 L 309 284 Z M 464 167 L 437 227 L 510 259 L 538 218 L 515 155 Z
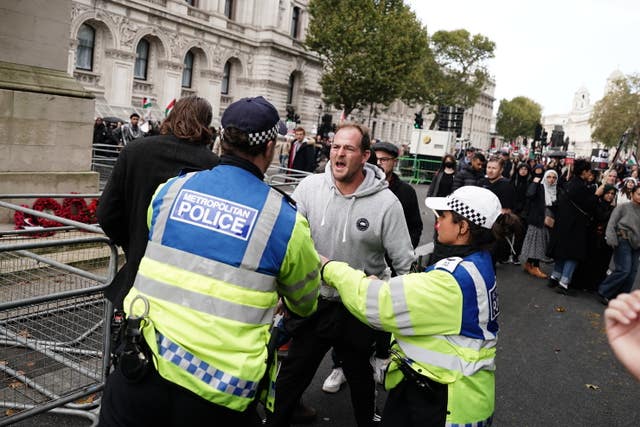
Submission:
M 525 96 L 503 99 L 498 107 L 496 131 L 510 141 L 518 136 L 532 137 L 541 117 L 540 104 Z

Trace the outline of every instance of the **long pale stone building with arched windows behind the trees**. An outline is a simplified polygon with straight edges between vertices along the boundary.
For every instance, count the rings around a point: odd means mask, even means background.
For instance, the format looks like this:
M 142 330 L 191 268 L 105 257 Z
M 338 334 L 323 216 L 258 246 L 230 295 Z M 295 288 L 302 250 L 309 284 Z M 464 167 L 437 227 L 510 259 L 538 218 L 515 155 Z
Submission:
M 73 0 L 68 72 L 96 96 L 96 116 L 128 119 L 151 100 L 152 118 L 173 99 L 197 94 L 224 109 L 263 95 L 282 117 L 291 106 L 313 133 L 321 117 L 341 116 L 322 102 L 322 64 L 303 48 L 308 0 Z M 487 107 L 490 105 L 490 107 Z M 469 112 L 470 134 L 489 140 L 493 92 Z M 486 110 L 486 111 L 485 111 Z M 408 143 L 414 112 L 400 101 L 356 110 L 375 138 Z M 485 117 L 486 116 L 486 117 Z M 488 142 L 487 142 L 488 146 Z

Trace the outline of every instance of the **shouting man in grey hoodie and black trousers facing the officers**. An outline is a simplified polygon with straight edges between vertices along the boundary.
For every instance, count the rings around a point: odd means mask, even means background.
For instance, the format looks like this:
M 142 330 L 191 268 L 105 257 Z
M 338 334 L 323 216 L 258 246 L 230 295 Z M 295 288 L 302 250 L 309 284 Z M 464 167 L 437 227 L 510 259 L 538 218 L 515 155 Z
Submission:
M 369 133 L 354 123 L 342 125 L 323 174 L 306 177 L 293 193 L 298 212 L 309 221 L 320 254 L 358 265 L 367 274 L 388 277 L 385 252 L 398 274 L 415 259 L 402 205 L 387 191 L 382 171 L 367 164 Z M 289 323 L 289 322 L 287 322 Z M 337 291 L 322 285 L 318 311 L 302 321 L 285 323 L 293 336 L 276 382 L 271 426 L 289 426 L 293 410 L 326 352 L 333 347 L 343 362 L 359 427 L 374 413 L 373 371 L 369 365 L 374 331 L 344 307 Z

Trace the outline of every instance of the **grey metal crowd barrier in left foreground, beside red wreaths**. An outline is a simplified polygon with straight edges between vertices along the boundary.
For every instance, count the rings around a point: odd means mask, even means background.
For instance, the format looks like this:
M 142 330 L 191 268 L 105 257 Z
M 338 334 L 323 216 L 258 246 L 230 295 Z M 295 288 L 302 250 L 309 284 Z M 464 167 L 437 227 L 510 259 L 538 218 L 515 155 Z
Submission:
M 45 411 L 96 425 L 113 312 L 104 289 L 118 254 L 99 227 L 2 200 L 40 196 L 0 195 L 0 209 L 62 224 L 46 236 L 0 230 L 0 426 Z

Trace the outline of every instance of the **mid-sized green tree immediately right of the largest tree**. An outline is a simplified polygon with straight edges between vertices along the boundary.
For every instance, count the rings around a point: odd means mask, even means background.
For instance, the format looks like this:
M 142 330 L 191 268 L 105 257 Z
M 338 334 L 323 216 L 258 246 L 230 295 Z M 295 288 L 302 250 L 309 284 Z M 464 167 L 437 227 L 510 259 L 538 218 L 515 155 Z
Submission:
M 407 81 L 403 99 L 434 114 L 429 126 L 433 129 L 439 106 L 475 105 L 490 79 L 486 61 L 494 57 L 494 50 L 493 41 L 464 29 L 434 33 L 420 68 Z

